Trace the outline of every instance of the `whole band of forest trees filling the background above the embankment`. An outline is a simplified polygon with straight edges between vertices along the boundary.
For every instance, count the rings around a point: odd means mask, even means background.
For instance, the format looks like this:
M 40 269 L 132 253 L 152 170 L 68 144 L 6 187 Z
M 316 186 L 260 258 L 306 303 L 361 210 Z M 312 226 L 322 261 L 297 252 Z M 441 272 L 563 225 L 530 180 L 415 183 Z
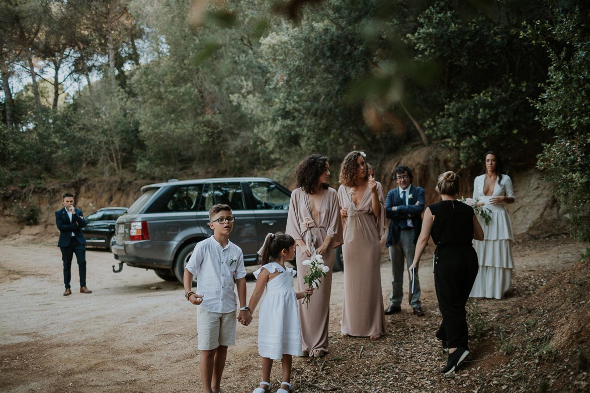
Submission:
M 539 167 L 583 234 L 588 4 L 0 0 L 0 189 L 448 144 Z

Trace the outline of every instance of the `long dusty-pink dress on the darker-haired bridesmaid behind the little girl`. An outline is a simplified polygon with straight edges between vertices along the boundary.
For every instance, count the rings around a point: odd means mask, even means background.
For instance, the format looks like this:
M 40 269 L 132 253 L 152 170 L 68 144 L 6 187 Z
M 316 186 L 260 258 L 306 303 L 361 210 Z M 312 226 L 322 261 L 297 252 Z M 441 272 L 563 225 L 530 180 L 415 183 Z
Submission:
M 312 218 L 312 209 L 310 208 L 309 195 L 303 190 L 296 189 L 291 193 L 291 202 L 289 205 L 289 216 L 287 217 L 287 235 L 293 239 L 306 241 L 306 236 L 310 232 L 311 237 L 316 237 L 314 247 L 322 245 L 326 236 L 332 237 L 332 247 L 342 244 L 342 224 L 340 223 L 340 214 L 338 199 L 335 189 L 327 189 L 322 196 L 322 202 L 319 208 L 319 222 L 313 222 L 307 226 L 303 224 Z M 307 218 L 307 220 L 306 220 Z M 299 304 L 299 318 L 301 321 L 301 350 L 309 352 L 313 356 L 313 351 L 321 349 L 328 352 L 328 322 L 330 315 L 330 293 L 332 292 L 332 268 L 334 267 L 334 249 L 330 247 L 323 256 L 324 265 L 330 267 L 320 282 L 320 288 L 313 291 L 313 296 L 309 306 Z M 303 277 L 307 274 L 307 267 L 303 266 L 303 261 L 309 259 L 306 256 L 304 247 L 297 247 L 297 283 L 299 290 L 305 290 L 307 285 L 303 282 Z

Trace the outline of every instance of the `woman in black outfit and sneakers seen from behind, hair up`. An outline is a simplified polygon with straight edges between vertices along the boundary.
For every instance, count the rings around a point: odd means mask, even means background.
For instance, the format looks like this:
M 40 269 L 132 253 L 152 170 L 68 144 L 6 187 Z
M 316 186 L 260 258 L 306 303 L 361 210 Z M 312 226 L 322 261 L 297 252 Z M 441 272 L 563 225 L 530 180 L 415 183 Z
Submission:
M 471 206 L 456 200 L 459 193 L 457 174 L 453 171 L 441 174 L 437 191 L 442 200 L 424 211 L 422 231 L 409 273 L 412 278 L 412 267 L 418 269 L 428 237 L 432 236 L 437 245 L 434 285 L 442 314 L 437 338 L 449 349 L 447 366 L 441 372 L 450 374 L 469 354 L 465 303 L 478 270 L 477 254 L 471 241 L 483 239 L 483 230 Z

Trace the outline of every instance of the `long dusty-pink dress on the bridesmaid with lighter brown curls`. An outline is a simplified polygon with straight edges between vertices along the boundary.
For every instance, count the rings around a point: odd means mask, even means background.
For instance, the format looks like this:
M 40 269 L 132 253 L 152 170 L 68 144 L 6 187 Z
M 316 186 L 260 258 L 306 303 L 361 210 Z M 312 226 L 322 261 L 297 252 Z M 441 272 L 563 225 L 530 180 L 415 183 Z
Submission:
M 379 239 L 385 232 L 385 197 L 383 186 L 377 182 L 381 214 L 376 218 L 372 209 L 369 187 L 362 196 L 356 213 L 344 224 L 344 303 L 340 331 L 350 336 L 379 336 L 385 334 L 383 294 L 381 292 L 381 247 Z M 340 186 L 341 207 L 352 203 L 350 187 Z M 351 209 L 349 208 L 349 212 Z M 354 222 L 353 222 L 354 221 Z M 349 229 L 349 226 L 354 226 Z M 353 239 L 350 238 L 353 235 Z

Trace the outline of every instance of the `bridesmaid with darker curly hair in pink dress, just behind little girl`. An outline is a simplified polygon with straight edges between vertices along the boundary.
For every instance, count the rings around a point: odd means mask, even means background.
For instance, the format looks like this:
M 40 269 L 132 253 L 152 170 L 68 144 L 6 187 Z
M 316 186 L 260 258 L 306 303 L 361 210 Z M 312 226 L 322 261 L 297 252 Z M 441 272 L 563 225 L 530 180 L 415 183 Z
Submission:
M 297 165 L 296 176 L 297 189 L 291 193 L 285 233 L 297 244 L 299 290 L 306 289 L 304 260 L 317 253 L 330 267 L 309 305 L 303 306 L 299 302 L 302 355 L 319 358 L 328 352 L 334 247 L 342 244 L 342 226 L 336 190 L 328 186 L 330 164 L 327 157 L 312 154 L 304 158 Z

